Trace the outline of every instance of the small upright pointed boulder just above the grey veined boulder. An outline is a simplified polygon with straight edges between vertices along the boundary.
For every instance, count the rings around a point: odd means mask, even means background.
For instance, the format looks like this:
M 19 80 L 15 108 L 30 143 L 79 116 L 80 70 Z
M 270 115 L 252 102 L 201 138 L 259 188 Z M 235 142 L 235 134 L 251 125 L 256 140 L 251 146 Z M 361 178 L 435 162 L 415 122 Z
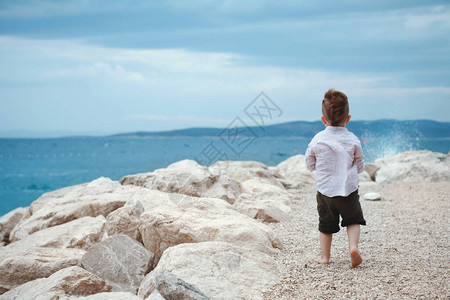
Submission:
M 126 234 L 136 241 L 142 241 L 139 232 L 139 218 L 144 206 L 138 200 L 130 200 L 106 218 L 106 232 L 109 236 Z

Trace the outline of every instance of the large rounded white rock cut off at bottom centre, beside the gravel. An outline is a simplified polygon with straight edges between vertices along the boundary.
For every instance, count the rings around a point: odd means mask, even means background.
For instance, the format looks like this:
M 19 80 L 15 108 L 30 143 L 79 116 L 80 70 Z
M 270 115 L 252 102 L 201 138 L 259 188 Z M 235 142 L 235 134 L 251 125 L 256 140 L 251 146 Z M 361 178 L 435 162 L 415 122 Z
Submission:
M 280 277 L 278 264 L 265 253 L 226 242 L 181 244 L 164 251 L 142 281 L 139 296 L 153 292 L 160 271 L 195 285 L 211 299 L 262 299 Z

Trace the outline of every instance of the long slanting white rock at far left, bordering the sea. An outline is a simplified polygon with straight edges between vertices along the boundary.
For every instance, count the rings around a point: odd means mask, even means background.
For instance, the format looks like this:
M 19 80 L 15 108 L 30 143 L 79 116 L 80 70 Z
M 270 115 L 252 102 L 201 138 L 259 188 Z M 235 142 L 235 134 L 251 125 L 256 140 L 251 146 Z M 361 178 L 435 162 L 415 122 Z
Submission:
M 29 215 L 14 227 L 10 239 L 17 241 L 41 229 L 85 216 L 107 216 L 122 207 L 130 194 L 130 189 L 104 177 L 46 193 L 31 203 Z

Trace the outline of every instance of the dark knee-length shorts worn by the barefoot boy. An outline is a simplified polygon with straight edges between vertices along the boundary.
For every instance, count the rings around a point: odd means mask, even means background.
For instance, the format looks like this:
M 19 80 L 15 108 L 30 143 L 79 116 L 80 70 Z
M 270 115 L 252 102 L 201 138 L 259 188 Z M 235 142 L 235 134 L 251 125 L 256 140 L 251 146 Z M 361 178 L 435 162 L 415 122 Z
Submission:
M 353 224 L 366 225 L 366 220 L 359 203 L 358 190 L 347 197 L 327 197 L 317 192 L 317 210 L 319 212 L 319 231 L 336 233 L 339 228 L 339 215 L 342 217 L 341 226 Z

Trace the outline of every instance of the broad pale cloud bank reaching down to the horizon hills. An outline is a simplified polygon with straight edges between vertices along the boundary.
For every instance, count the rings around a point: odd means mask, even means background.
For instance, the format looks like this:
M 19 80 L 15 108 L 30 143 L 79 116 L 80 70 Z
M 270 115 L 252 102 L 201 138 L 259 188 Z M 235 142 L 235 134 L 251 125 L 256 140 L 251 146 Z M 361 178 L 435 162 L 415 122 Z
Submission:
M 108 48 L 71 39 L 0 36 L 0 51 L 0 129 L 221 127 L 245 118 L 243 109 L 261 91 L 284 111 L 274 122 L 316 120 L 330 87 L 349 95 L 356 119 L 448 120 L 448 85 L 410 87 L 409 72 L 284 67 L 230 52 Z M 408 103 L 396 110 L 401 115 L 386 110 L 394 100 Z

